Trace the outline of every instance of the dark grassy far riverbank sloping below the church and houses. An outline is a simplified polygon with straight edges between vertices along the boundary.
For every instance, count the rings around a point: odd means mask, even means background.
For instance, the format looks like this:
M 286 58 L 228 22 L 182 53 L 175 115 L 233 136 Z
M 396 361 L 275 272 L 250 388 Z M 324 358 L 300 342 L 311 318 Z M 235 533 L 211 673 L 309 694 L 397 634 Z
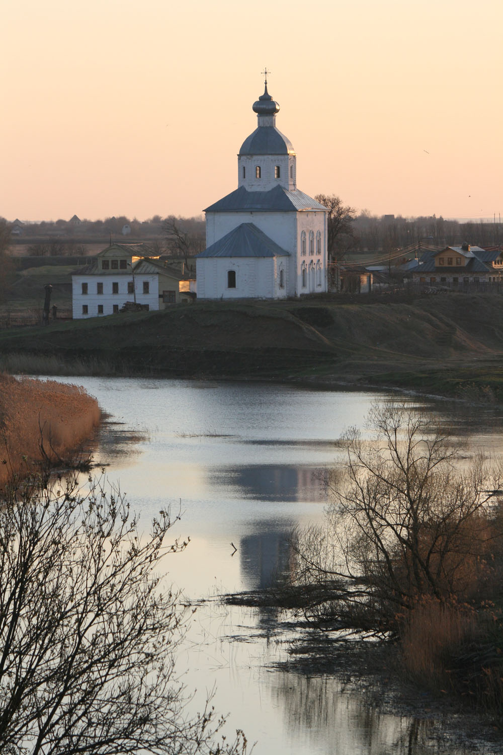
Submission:
M 499 402 L 503 298 L 198 302 L 0 331 L 11 373 L 308 381 Z

